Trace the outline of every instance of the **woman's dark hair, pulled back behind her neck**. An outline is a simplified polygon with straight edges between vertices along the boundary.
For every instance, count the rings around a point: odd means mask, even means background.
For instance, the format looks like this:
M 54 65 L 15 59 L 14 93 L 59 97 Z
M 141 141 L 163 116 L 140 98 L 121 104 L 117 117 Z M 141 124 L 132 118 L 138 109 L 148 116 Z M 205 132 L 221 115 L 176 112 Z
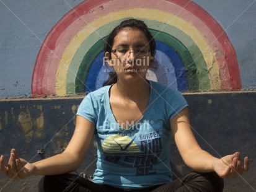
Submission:
M 120 25 L 118 25 L 117 27 L 115 27 L 112 32 L 108 35 L 107 41 L 105 43 L 104 46 L 104 51 L 111 53 L 112 52 L 112 46 L 114 43 L 114 38 L 117 35 L 118 32 L 120 32 L 121 30 L 123 30 L 123 28 L 136 28 L 138 30 L 141 30 L 141 32 L 144 33 L 144 35 L 146 36 L 146 38 L 149 41 L 149 47 L 151 50 L 151 56 L 154 57 L 155 52 L 156 52 L 156 42 L 154 40 L 154 37 L 151 35 L 151 33 L 149 32 L 148 26 L 142 21 L 142 20 L 138 20 L 138 19 L 128 19 L 128 20 L 123 20 Z M 111 59 L 111 54 L 109 54 L 109 58 Z M 115 84 L 117 82 L 117 73 L 115 71 L 111 71 L 109 72 L 109 77 L 107 79 L 107 81 L 104 82 L 104 86 L 105 85 L 112 85 Z

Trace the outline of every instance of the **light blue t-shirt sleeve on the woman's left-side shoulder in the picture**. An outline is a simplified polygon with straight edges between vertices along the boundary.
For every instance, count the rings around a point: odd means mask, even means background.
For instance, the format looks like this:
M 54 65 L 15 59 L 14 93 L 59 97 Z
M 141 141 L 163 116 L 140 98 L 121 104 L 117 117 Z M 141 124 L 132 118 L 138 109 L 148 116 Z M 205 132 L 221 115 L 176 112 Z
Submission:
M 96 126 L 98 119 L 99 107 L 97 105 L 97 100 L 92 93 L 86 95 L 86 97 L 82 100 L 79 108 L 77 110 L 76 115 L 80 115 L 87 120 L 89 120 L 92 124 Z

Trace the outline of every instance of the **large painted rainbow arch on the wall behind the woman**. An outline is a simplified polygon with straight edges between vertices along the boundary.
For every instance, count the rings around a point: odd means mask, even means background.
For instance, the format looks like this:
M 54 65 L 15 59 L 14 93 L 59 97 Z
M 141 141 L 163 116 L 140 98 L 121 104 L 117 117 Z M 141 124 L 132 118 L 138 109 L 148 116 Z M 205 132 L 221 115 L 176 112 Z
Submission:
M 241 90 L 237 56 L 223 28 L 188 0 L 81 2 L 53 27 L 38 53 L 32 96 L 65 96 L 102 87 L 105 38 L 121 20 L 144 20 L 157 42 L 149 77 L 182 92 Z

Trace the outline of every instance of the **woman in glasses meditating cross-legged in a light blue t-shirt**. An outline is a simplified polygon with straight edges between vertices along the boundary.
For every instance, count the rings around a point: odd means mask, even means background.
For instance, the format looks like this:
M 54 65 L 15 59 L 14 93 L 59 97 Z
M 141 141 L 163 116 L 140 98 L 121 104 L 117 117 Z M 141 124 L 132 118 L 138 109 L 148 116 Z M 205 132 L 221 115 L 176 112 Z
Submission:
M 174 89 L 148 81 L 156 45 L 141 20 L 121 22 L 108 36 L 105 57 L 113 69 L 106 86 L 88 94 L 77 111 L 76 129 L 62 154 L 29 163 L 14 149 L 1 171 L 12 179 L 47 175 L 39 191 L 222 191 L 223 178 L 249 170 L 239 152 L 218 159 L 203 151 L 190 126 L 188 105 Z M 145 62 L 147 61 L 147 62 Z M 195 172 L 172 180 L 170 139 Z M 97 139 L 92 181 L 73 175 Z

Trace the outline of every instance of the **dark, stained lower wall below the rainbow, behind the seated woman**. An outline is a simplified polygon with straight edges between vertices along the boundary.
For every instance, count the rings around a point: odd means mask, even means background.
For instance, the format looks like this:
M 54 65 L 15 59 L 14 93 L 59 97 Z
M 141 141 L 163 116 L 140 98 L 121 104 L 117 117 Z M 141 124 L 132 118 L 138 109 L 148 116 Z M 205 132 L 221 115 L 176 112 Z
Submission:
M 216 157 L 240 151 L 249 155 L 250 172 L 225 180 L 224 191 L 256 191 L 256 92 L 186 94 L 192 128 L 201 147 Z M 74 131 L 74 115 L 82 98 L 2 100 L 0 102 L 0 154 L 9 158 L 17 149 L 20 157 L 34 162 L 63 151 Z M 189 171 L 172 140 L 171 163 L 179 177 Z M 97 158 L 94 142 L 83 164 L 88 176 Z M 0 174 L 0 191 L 37 191 L 40 177 L 9 181 Z

